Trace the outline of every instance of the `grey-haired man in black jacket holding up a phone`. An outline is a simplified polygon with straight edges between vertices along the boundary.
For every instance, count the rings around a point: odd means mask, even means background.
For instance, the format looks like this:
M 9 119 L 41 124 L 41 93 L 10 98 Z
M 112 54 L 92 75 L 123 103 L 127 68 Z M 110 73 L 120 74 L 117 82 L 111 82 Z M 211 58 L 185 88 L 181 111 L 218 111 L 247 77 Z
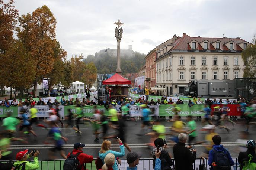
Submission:
M 178 139 L 179 142 L 173 146 L 175 170 L 194 170 L 193 163 L 196 160 L 196 149 L 190 151 L 192 149 L 191 146 L 185 147 L 186 134 L 179 134 Z

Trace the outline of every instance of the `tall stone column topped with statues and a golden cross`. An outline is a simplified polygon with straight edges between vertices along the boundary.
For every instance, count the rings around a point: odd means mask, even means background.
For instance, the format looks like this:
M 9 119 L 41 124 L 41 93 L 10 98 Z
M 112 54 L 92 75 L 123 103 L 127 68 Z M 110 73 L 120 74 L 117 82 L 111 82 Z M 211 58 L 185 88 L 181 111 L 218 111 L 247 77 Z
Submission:
M 121 71 L 121 59 L 120 59 L 120 42 L 121 42 L 121 38 L 123 36 L 123 29 L 122 27 L 120 27 L 120 25 L 123 25 L 123 23 L 120 22 L 120 19 L 118 19 L 117 22 L 115 22 L 114 24 L 117 25 L 117 27 L 115 28 L 115 37 L 116 37 L 116 41 L 117 41 L 117 65 L 116 65 L 116 73 L 122 73 Z

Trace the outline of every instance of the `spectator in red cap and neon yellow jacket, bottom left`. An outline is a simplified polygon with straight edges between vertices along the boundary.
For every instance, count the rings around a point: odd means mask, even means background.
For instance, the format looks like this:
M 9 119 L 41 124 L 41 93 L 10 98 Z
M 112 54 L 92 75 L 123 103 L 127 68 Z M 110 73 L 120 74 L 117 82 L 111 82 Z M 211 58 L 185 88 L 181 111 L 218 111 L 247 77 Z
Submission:
M 31 151 L 31 153 L 29 154 L 27 153 L 28 153 L 28 150 L 26 149 L 16 154 L 16 160 L 18 161 L 15 162 L 13 166 L 18 167 L 17 170 L 22 170 L 23 166 L 25 166 L 25 170 L 35 170 L 39 168 L 38 157 L 37 157 L 40 154 L 39 150 L 36 151 L 34 155 L 32 155 L 33 151 Z M 32 156 L 34 157 L 34 163 L 30 163 L 27 161 L 27 159 Z

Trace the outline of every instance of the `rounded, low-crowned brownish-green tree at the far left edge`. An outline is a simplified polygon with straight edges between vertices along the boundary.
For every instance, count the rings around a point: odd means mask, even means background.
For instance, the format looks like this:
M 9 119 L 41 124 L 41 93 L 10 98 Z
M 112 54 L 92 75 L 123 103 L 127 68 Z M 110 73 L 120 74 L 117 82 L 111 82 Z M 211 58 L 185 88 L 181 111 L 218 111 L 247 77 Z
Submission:
M 19 40 L 10 46 L 2 59 L 4 62 L 0 62 L 0 68 L 5 72 L 0 76 L 4 80 L 4 84 L 10 86 L 10 98 L 12 98 L 12 88 L 23 92 L 32 84 L 35 77 L 35 66 L 32 56 L 26 53 L 25 47 Z

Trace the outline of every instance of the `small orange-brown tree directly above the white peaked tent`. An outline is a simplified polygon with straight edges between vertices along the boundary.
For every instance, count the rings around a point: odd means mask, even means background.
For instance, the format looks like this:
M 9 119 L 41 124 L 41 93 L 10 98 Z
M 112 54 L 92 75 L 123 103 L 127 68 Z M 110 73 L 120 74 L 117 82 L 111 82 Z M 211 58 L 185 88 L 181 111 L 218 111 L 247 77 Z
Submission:
M 75 55 L 75 57 L 72 56 L 70 63 L 71 69 L 73 70 L 74 81 L 81 81 L 81 77 L 84 74 L 86 67 L 86 64 L 83 62 L 83 54 L 80 54 L 79 56 Z

